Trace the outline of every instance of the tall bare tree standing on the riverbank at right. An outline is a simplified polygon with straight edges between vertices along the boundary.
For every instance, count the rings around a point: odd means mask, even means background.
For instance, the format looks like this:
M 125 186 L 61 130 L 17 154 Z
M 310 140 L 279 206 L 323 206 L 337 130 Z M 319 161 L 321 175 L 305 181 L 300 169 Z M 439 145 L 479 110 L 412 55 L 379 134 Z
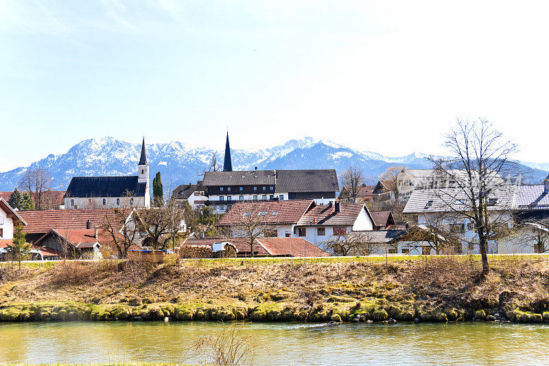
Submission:
M 485 119 L 458 121 L 446 136 L 445 146 L 452 152 L 452 157 L 429 160 L 454 189 L 436 192 L 441 194 L 448 211 L 473 222 L 482 258 L 482 275 L 486 275 L 490 268 L 487 249 L 491 229 L 500 225 L 489 213 L 489 205 L 495 204 L 489 195 L 496 187 L 502 187 L 502 176 L 515 178 L 517 164 L 509 157 L 517 151 L 517 146 L 504 140 L 502 133 Z

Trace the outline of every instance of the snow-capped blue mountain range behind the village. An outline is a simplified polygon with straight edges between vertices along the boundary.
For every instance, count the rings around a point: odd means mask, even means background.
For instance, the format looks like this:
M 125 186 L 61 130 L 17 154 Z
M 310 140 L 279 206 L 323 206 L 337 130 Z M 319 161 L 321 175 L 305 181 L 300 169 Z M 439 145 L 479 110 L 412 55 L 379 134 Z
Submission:
M 207 170 L 215 153 L 222 164 L 224 151 L 211 148 L 187 148 L 178 141 L 166 144 L 147 144 L 150 178 L 161 172 L 164 190 L 173 190 L 182 183 L 196 183 Z M 54 190 L 65 190 L 73 176 L 137 175 L 137 161 L 141 144 L 103 137 L 86 139 L 75 144 L 65 154 L 48 155 L 27 167 L 0 173 L 0 190 L 13 190 L 27 169 L 45 168 L 49 171 Z M 412 153 L 404 157 L 385 157 L 376 152 L 360 151 L 332 141 L 312 137 L 291 139 L 285 144 L 261 150 L 231 150 L 233 170 L 257 169 L 323 169 L 334 168 L 338 174 L 350 165 L 362 168 L 366 183 L 375 184 L 390 166 L 431 168 L 428 155 Z M 549 163 L 522 163 L 531 182 L 539 183 L 547 175 Z

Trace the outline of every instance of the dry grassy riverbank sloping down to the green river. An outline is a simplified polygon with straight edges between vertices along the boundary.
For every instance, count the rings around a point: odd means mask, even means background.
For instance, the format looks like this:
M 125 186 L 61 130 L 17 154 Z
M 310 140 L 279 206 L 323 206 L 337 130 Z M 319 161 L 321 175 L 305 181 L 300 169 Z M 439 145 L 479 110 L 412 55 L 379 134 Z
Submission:
M 0 321 L 549 320 L 549 260 L 474 256 L 1 264 Z

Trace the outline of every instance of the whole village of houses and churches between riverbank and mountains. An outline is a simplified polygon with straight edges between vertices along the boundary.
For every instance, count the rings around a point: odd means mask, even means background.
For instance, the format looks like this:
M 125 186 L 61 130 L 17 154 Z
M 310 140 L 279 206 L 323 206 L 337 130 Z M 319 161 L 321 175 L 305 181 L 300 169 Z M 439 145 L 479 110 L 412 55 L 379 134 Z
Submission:
M 222 167 L 214 163 L 200 181 L 166 194 L 160 173 L 151 185 L 144 138 L 136 163 L 135 176 L 73 177 L 65 192 L 33 192 L 33 185 L 2 192 L 1 260 L 480 253 L 465 170 L 393 166 L 376 185 L 363 183 L 355 166 L 340 176 L 239 171 L 229 133 Z M 487 174 L 483 198 L 486 253 L 546 253 L 549 176 L 524 184 L 499 173 Z M 47 200 L 50 209 L 32 205 Z

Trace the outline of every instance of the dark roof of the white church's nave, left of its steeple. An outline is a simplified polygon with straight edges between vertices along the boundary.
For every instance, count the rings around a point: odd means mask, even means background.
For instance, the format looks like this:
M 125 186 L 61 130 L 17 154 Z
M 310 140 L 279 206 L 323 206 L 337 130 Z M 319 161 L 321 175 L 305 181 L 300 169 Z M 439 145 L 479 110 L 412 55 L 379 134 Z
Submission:
M 136 176 L 75 176 L 65 197 L 145 196 L 145 183 Z

